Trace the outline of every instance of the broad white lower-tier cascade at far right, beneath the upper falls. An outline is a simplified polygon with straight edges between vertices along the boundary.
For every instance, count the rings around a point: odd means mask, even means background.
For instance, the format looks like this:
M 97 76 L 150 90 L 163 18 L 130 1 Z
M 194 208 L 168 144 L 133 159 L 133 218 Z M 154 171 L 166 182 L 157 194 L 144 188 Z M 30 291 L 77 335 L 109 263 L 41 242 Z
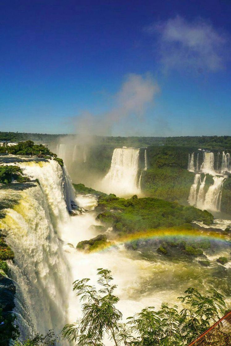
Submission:
M 221 209 L 221 197 L 222 197 L 222 187 L 225 178 L 222 176 L 213 177 L 213 185 L 208 189 L 205 196 L 204 209 L 220 211 Z

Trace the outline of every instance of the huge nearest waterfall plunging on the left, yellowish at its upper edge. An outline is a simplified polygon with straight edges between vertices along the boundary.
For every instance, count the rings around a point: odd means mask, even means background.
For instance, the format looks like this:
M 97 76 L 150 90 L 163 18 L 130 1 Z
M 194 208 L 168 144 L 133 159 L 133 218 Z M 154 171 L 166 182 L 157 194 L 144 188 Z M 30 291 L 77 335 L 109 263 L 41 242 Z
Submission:
M 60 332 L 66 323 L 72 283 L 59 240 L 71 218 L 71 182 L 55 161 L 17 164 L 24 174 L 39 180 L 39 184 L 17 191 L 18 204 L 0 219 L 0 228 L 9 231 L 7 242 L 15 253 L 10 266 L 20 332 L 22 337 L 37 331 L 45 334 L 55 326 Z

